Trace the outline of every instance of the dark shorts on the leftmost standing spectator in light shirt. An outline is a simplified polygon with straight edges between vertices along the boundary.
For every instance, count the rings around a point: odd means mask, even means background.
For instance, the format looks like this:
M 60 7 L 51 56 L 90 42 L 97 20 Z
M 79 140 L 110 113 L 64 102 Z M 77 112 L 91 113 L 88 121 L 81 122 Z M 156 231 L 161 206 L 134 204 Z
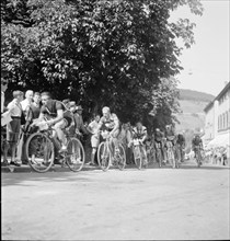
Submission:
M 12 117 L 12 120 L 7 124 L 7 141 L 18 142 L 21 129 L 21 117 Z

